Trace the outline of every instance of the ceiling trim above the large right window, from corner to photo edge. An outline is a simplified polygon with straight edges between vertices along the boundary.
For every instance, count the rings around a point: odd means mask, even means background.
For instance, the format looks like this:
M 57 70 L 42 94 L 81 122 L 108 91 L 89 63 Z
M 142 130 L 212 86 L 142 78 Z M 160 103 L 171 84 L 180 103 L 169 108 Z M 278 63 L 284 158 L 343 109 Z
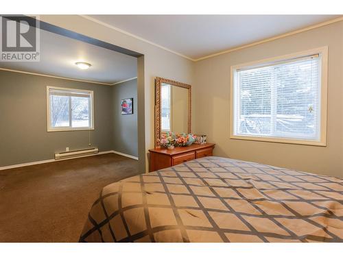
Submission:
M 241 50 L 241 49 L 244 49 L 244 48 L 253 47 L 255 45 L 260 45 L 260 44 L 263 44 L 265 42 L 270 42 L 270 41 L 273 41 L 273 40 L 276 40 L 276 39 L 279 39 L 279 38 L 285 38 L 286 36 L 292 36 L 294 34 L 298 34 L 298 33 L 301 33 L 301 32 L 307 32 L 308 30 L 316 29 L 318 27 L 322 27 L 322 26 L 325 26 L 325 25 L 330 25 L 332 23 L 338 23 L 339 21 L 343 21 L 343 16 L 339 17 L 339 18 L 336 18 L 336 19 L 333 19 L 333 20 L 330 20 L 330 21 L 325 21 L 323 23 L 318 23 L 316 25 L 311 25 L 309 27 L 304 27 L 303 29 L 297 29 L 297 30 L 294 30 L 293 32 L 287 32 L 287 33 L 281 34 L 279 36 L 273 36 L 272 38 L 265 38 L 263 40 L 252 42 L 250 44 L 241 45 L 239 47 L 233 47 L 233 48 L 227 49 L 225 51 L 220 51 L 218 53 L 213 53 L 213 54 L 211 54 L 209 56 L 200 57 L 200 58 L 198 58 L 198 59 L 196 59 L 194 61 L 198 62 L 200 60 L 204 60 L 204 59 L 211 58 L 211 57 L 214 57 L 214 56 L 220 56 L 220 55 L 222 55 L 224 53 L 230 53 L 230 52 Z

